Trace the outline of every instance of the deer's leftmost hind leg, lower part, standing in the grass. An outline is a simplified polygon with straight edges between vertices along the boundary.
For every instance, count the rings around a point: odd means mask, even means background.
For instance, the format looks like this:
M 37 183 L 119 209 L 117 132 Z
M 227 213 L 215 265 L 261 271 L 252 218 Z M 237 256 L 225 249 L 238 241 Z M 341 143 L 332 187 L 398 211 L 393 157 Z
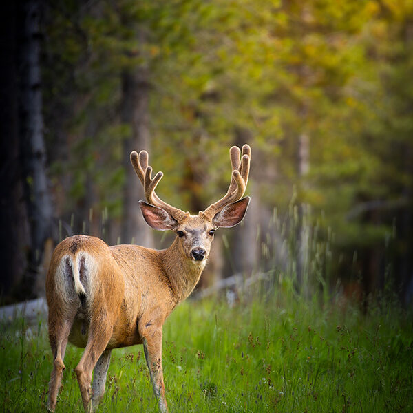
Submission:
M 49 326 L 50 347 L 52 348 L 54 359 L 54 366 L 49 382 L 49 396 L 47 399 L 47 409 L 50 410 L 50 412 L 54 412 L 56 407 L 57 394 L 59 393 L 63 370 L 65 370 L 63 359 L 65 357 L 67 339 L 72 324 L 73 317 L 71 317 L 70 320 L 65 319 L 61 324 L 50 324 Z

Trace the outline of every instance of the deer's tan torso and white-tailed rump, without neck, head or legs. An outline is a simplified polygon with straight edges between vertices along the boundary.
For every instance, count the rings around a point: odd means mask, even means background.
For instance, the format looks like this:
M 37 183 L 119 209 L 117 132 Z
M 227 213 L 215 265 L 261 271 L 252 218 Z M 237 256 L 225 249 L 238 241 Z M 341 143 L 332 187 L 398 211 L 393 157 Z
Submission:
M 66 238 L 47 273 L 50 325 L 75 315 L 70 342 L 79 347 L 87 343 L 92 319 L 113 326 L 108 348 L 141 343 L 140 326 L 151 320 L 162 325 L 178 303 L 166 255 L 137 245 L 107 246 L 86 235 Z

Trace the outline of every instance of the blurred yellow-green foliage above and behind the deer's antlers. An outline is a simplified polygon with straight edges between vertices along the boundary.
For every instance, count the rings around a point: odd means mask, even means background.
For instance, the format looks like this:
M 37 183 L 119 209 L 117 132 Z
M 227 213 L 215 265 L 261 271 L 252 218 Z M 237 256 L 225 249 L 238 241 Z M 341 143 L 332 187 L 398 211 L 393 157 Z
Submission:
M 227 148 L 248 140 L 248 190 L 262 208 L 287 211 L 295 186 L 297 202 L 324 211 L 349 257 L 381 248 L 394 218 L 399 251 L 413 244 L 402 224 L 413 196 L 410 1 L 56 4 L 43 78 L 52 181 L 69 176 L 71 187 L 64 213 L 84 203 L 87 181 L 92 207 L 120 220 L 120 147 L 130 131 L 120 74 L 143 67 L 151 159 L 172 204 L 195 211 L 224 193 Z

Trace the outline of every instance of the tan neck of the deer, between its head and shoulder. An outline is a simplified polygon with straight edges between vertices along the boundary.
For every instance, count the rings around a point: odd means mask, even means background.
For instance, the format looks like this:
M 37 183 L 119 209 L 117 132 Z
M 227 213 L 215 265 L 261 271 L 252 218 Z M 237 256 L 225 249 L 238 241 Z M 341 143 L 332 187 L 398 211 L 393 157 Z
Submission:
M 206 260 L 195 261 L 187 257 L 187 255 L 181 251 L 178 238 L 175 239 L 169 248 L 160 251 L 160 256 L 165 274 L 169 278 L 169 282 L 171 282 L 171 287 L 175 293 L 177 299 L 176 304 L 178 304 L 180 301 L 186 299 L 196 284 L 198 284 Z

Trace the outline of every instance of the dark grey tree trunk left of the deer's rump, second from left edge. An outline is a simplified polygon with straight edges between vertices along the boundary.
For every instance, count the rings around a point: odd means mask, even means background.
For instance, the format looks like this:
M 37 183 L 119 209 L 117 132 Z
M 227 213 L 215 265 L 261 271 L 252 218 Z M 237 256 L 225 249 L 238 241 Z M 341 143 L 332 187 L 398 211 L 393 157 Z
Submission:
M 40 76 L 39 21 L 41 9 L 38 1 L 23 1 L 21 17 L 21 50 L 19 52 L 20 74 L 20 142 L 21 165 L 28 205 L 31 246 L 29 266 L 25 274 L 22 298 L 39 294 L 35 281 L 44 276 L 39 265 L 43 246 L 52 235 L 52 202 L 47 187 L 45 169 L 45 143 L 43 140 L 43 116 Z

